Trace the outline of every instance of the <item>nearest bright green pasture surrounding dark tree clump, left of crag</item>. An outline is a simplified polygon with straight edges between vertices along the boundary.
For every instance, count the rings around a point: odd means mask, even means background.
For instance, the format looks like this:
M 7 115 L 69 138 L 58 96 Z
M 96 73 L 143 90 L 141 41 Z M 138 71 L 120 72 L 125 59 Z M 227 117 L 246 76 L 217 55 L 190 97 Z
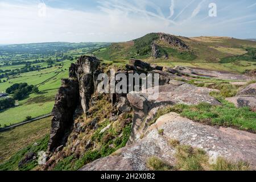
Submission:
M 51 113 L 55 102 L 55 94 L 61 85 L 60 80 L 68 77 L 68 68 L 72 61 L 66 60 L 63 63 L 63 68 L 54 67 L 41 72 L 23 73 L 8 82 L 0 83 L 2 91 L 19 82 L 38 85 L 40 90 L 39 94 L 30 94 L 24 100 L 19 101 L 19 106 L 0 111 L 0 124 L 9 126 L 24 121 L 27 116 L 36 118 L 40 115 Z M 61 69 L 63 72 L 61 72 Z M 57 75 L 56 72 L 59 74 Z

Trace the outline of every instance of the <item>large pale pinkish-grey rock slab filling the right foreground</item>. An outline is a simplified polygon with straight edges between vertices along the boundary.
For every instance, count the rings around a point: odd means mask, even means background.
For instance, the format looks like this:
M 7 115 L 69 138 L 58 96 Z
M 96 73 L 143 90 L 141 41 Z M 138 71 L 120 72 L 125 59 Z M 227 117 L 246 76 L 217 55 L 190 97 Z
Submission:
M 159 135 L 159 129 L 163 129 L 163 135 Z M 139 142 L 121 148 L 106 158 L 95 160 L 81 170 L 143 171 L 148 170 L 146 162 L 151 156 L 175 166 L 176 151 L 168 144 L 170 139 L 205 150 L 209 155 L 209 163 L 215 163 L 218 156 L 221 156 L 232 162 L 247 161 L 255 169 L 255 134 L 230 128 L 216 129 L 182 118 L 179 114 L 169 113 L 160 117 Z

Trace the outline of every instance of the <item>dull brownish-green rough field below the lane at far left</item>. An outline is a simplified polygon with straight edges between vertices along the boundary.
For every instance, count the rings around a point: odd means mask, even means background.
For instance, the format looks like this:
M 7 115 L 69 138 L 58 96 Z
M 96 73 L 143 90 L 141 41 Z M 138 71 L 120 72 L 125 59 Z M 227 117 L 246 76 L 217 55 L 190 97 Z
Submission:
M 27 144 L 33 144 L 36 140 L 44 137 L 49 133 L 50 128 L 51 117 L 0 133 L 0 163 L 10 159 Z

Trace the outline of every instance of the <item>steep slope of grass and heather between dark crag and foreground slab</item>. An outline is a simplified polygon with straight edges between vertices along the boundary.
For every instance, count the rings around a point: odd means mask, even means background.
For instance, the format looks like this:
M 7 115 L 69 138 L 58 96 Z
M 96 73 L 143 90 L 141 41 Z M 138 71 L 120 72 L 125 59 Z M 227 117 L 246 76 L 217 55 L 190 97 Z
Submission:
M 63 150 L 63 157 L 59 158 L 59 156 L 56 156 L 56 163 L 49 167 L 49 169 L 57 171 L 77 170 L 93 160 L 109 156 L 119 150 L 119 148 L 126 146 L 131 134 L 131 118 L 133 118 L 133 115 L 125 113 L 119 116 L 117 121 L 111 122 L 108 116 L 114 112 L 114 108 L 112 108 L 108 101 L 108 96 L 96 97 L 98 97 L 98 100 L 90 108 L 86 118 L 81 117 L 78 121 L 83 123 L 86 131 L 78 136 L 76 133 L 72 133 L 69 136 L 67 146 Z M 91 126 L 95 118 L 98 121 L 96 128 Z M 101 133 L 101 130 L 109 125 L 109 129 Z M 76 143 L 76 140 L 72 140 L 72 138 L 75 136 L 80 140 L 80 146 L 75 152 L 72 152 L 73 145 Z M 88 140 L 93 145 L 85 147 Z

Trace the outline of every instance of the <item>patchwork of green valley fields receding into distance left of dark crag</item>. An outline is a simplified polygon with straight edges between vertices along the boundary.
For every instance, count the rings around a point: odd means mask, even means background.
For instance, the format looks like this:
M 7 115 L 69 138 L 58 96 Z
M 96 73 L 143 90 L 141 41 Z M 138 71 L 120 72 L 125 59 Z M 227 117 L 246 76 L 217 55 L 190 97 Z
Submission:
M 31 64 L 31 66 L 40 66 L 40 67 L 47 67 L 47 69 L 41 69 L 39 71 L 31 71 L 26 73 L 21 73 L 19 75 L 12 75 L 9 77 L 1 78 L 2 80 L 0 82 L 0 92 L 6 92 L 6 89 L 9 88 L 11 85 L 16 83 L 22 83 L 26 82 L 28 85 L 36 85 L 39 88 L 40 93 L 32 93 L 29 96 L 26 96 L 23 100 L 18 101 L 18 106 L 11 107 L 5 110 L 0 110 L 0 125 L 1 127 L 13 125 L 15 123 L 23 122 L 26 120 L 27 117 L 36 118 L 41 115 L 45 115 L 48 113 L 51 113 L 51 110 L 53 108 L 53 105 L 55 103 L 55 95 L 57 90 L 59 89 L 61 85 L 61 78 L 68 78 L 68 70 L 71 65 L 71 63 L 75 63 L 77 57 L 81 56 L 82 54 L 88 53 L 88 51 L 92 51 L 92 49 L 95 48 L 101 48 L 104 46 L 104 43 L 90 43 L 87 44 L 74 44 L 71 46 L 75 47 L 81 47 L 81 48 L 75 48 L 75 49 L 68 49 L 67 51 L 60 51 L 55 52 L 54 55 L 32 55 L 31 58 L 27 56 L 26 52 L 22 53 L 13 53 L 10 52 L 9 56 L 1 56 L 0 62 L 2 63 L 9 63 L 11 64 L 11 61 L 9 61 L 10 57 L 13 58 L 13 61 L 19 62 L 20 59 L 22 61 L 28 61 L 33 62 L 36 59 L 32 57 L 37 57 L 37 59 L 61 59 L 63 56 L 73 57 L 72 60 L 65 59 L 62 61 L 54 61 L 51 67 L 46 62 L 43 63 L 35 63 Z M 61 49 L 61 46 L 66 46 L 66 44 L 59 44 L 59 48 Z M 86 46 L 87 45 L 87 46 Z M 107 45 L 107 44 L 106 44 Z M 51 47 L 50 45 L 49 47 Z M 69 45 L 70 46 L 70 45 Z M 25 45 L 24 47 L 21 46 L 18 50 L 22 51 L 22 48 L 31 47 L 31 50 L 36 49 L 38 46 L 35 44 Z M 39 47 L 40 44 L 39 44 Z M 49 48 L 46 46 L 46 48 L 42 49 L 48 50 Z M 7 49 L 5 51 L 13 51 L 13 49 Z M 2 50 L 0 50 L 1 52 Z M 26 51 L 26 50 L 25 50 Z M 37 49 L 35 51 L 38 51 Z M 50 51 L 52 51 L 50 49 Z M 27 59 L 25 59 L 28 57 Z M 20 64 L 20 65 L 2 65 L 0 67 L 0 70 L 6 71 L 6 70 L 15 70 L 15 69 L 21 69 L 25 67 L 26 65 Z M 1 75 L 1 74 L 0 74 Z

